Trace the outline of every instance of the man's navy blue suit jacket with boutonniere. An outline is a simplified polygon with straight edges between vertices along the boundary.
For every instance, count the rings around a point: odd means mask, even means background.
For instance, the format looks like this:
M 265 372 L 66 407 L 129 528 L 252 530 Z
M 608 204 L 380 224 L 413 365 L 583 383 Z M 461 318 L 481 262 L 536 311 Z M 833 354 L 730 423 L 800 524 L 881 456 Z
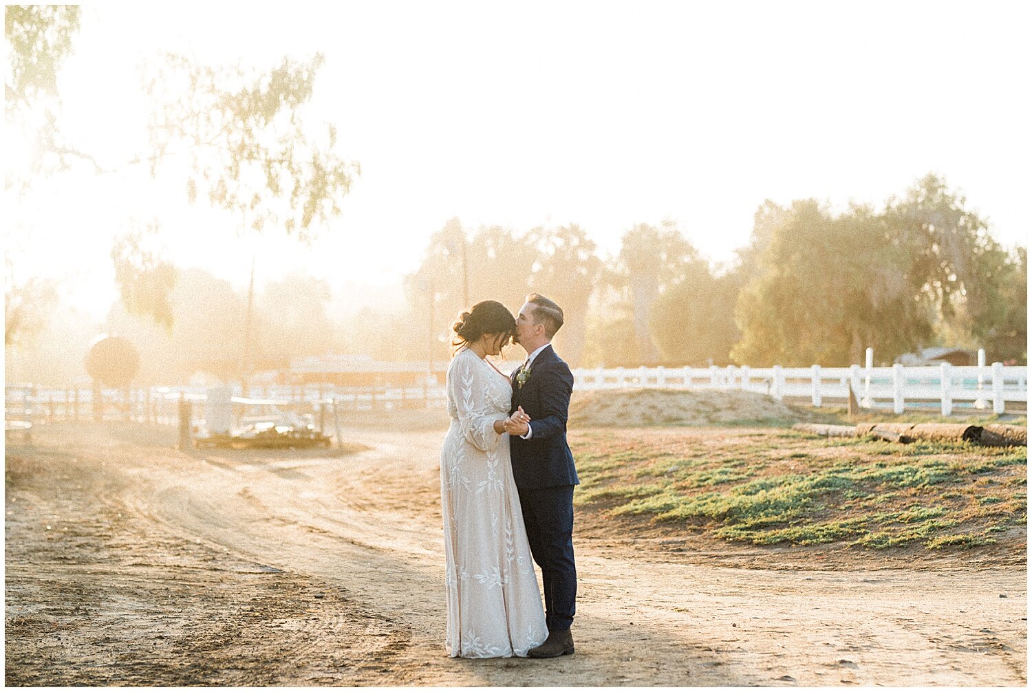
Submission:
M 576 486 L 580 483 L 574 455 L 567 444 L 567 418 L 570 415 L 570 395 L 574 390 L 574 375 L 551 344 L 538 354 L 530 364 L 530 375 L 523 387 L 516 383 L 516 372 L 510 381 L 513 386 L 513 405 L 530 417 L 530 439 L 510 435 L 513 477 L 518 488 L 553 488 Z

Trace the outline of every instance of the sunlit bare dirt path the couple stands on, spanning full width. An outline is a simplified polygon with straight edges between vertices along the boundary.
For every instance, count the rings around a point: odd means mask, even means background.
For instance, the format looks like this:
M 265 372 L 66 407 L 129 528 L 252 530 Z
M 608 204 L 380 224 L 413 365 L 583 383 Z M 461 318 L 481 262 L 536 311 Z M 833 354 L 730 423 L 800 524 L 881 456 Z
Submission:
M 575 533 L 577 654 L 443 649 L 442 433 L 191 452 L 54 425 L 7 450 L 8 685 L 1024 685 L 1024 568 L 738 569 Z

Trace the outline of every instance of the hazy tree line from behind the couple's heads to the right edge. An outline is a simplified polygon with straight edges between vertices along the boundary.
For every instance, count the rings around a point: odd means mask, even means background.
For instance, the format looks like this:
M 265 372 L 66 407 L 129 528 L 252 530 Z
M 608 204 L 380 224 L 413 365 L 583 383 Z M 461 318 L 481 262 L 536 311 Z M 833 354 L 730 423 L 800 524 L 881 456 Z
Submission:
M 515 310 L 527 292 L 552 297 L 567 314 L 556 349 L 585 367 L 847 365 L 868 347 L 891 363 L 944 344 L 1027 359 L 1026 249 L 1002 248 L 932 174 L 882 210 L 768 200 L 730 267 L 713 266 L 669 221 L 635 225 L 603 260 L 575 224 L 467 234 L 452 220 L 407 281 L 423 342 L 441 358 L 464 307 L 463 241 L 469 302 Z

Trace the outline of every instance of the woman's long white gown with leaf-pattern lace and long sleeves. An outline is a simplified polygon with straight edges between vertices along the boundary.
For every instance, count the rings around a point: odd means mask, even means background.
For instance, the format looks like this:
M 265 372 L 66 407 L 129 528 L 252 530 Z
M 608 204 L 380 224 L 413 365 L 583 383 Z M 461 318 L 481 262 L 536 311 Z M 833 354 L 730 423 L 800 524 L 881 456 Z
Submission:
M 449 656 L 526 656 L 548 636 L 509 457 L 509 381 L 469 350 L 448 367 L 441 450 Z

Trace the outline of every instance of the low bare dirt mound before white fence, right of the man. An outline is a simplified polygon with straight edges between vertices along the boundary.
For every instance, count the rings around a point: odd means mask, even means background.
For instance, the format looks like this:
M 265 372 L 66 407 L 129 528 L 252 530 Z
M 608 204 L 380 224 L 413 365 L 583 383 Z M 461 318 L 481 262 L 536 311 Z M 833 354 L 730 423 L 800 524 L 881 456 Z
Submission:
M 571 427 L 794 423 L 805 417 L 766 394 L 658 389 L 574 392 Z

